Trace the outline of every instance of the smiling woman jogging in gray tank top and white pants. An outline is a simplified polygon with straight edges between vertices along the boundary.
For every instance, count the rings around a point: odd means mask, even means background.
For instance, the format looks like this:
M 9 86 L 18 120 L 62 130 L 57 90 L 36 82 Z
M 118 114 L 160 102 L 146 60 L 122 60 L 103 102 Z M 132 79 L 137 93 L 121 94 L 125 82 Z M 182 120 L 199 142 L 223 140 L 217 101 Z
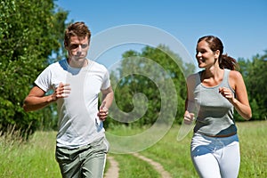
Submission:
M 238 177 L 240 152 L 236 109 L 245 119 L 252 117 L 247 89 L 237 62 L 223 54 L 223 43 L 216 36 L 198 39 L 196 58 L 202 71 L 187 78 L 184 123 L 195 117 L 191 141 L 192 162 L 200 177 Z

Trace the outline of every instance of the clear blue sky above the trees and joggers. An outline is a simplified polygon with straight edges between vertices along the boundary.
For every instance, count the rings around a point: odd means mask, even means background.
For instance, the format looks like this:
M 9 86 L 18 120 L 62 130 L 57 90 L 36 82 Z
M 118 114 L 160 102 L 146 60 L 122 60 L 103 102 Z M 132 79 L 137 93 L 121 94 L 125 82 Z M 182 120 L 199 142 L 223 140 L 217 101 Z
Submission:
M 236 59 L 252 59 L 267 50 L 266 0 L 57 0 L 55 3 L 69 11 L 68 20 L 85 21 L 93 36 L 128 24 L 163 30 L 179 40 L 193 60 L 197 40 L 205 35 L 219 36 L 224 53 Z M 142 48 L 138 45 L 114 48 L 99 61 L 109 67 L 124 50 L 139 47 Z

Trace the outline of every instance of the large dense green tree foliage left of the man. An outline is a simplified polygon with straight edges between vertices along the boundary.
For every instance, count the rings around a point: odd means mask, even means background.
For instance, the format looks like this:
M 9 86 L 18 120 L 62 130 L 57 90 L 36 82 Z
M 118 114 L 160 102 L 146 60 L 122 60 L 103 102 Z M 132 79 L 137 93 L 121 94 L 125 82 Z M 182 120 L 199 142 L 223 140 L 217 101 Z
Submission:
M 60 56 L 68 12 L 56 9 L 53 0 L 3 0 L 0 3 L 0 126 L 35 131 L 49 108 L 25 113 L 22 103 L 36 76 L 52 53 Z

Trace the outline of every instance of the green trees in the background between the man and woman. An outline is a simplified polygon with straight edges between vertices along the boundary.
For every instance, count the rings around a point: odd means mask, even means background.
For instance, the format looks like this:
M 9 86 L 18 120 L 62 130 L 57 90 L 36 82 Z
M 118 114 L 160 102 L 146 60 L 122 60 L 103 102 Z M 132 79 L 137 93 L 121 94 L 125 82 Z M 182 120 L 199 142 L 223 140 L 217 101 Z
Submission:
M 188 67 L 193 69 L 190 65 Z M 125 125 L 152 125 L 162 113 L 164 123 L 175 118 L 176 122 L 181 122 L 186 97 L 185 70 L 179 55 L 165 45 L 157 48 L 146 46 L 142 53 L 125 52 L 121 65 L 110 75 L 115 91 L 115 104 L 110 114 Z M 125 113 L 131 113 L 132 117 L 117 111 L 114 105 Z M 133 122 L 137 118 L 140 119 Z M 116 125 L 117 122 L 108 119 L 105 124 Z

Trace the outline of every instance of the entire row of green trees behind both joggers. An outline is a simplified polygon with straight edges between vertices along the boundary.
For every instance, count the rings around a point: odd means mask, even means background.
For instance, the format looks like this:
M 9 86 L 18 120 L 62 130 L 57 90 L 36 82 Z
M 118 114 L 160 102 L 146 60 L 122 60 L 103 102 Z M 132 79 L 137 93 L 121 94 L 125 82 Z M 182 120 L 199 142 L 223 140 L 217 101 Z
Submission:
M 11 126 L 23 134 L 40 128 L 55 129 L 54 104 L 29 113 L 24 112 L 22 104 L 36 76 L 50 63 L 66 57 L 63 34 L 69 12 L 53 0 L 3 0 L 0 4 L 1 133 Z M 116 85 L 115 104 L 105 125 L 152 125 L 163 112 L 170 119 L 162 122 L 181 123 L 185 77 L 195 67 L 184 63 L 165 45 L 145 46 L 142 53 L 129 50 L 122 58 L 119 68 L 110 72 L 112 85 Z M 252 59 L 239 59 L 253 120 L 266 119 L 266 60 L 267 51 Z M 242 120 L 239 115 L 236 118 Z

